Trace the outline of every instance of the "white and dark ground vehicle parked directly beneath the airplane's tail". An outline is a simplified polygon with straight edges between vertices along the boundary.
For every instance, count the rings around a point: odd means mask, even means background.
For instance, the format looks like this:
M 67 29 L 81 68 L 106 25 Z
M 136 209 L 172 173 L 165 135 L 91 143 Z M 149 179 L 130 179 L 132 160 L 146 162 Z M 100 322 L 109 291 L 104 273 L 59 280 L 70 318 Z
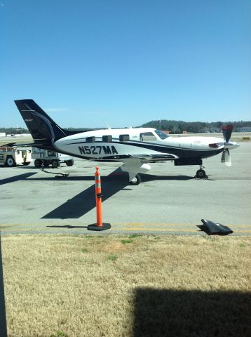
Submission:
M 67 166 L 72 166 L 74 164 L 73 158 L 71 156 L 67 156 L 67 154 L 38 149 L 37 147 L 32 147 L 32 159 L 34 159 L 34 165 L 38 168 L 42 165 L 51 165 L 54 169 L 56 169 L 61 163 L 65 163 Z

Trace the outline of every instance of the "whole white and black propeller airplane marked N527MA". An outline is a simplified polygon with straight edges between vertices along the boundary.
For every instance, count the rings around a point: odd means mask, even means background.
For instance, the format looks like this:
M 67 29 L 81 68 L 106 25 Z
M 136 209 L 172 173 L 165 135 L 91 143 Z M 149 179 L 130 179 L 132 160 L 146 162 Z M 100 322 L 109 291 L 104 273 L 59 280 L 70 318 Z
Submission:
M 223 128 L 224 138 L 170 137 L 155 128 L 107 128 L 67 131 L 60 128 L 34 100 L 15 100 L 32 134 L 32 146 L 70 154 L 93 161 L 120 161 L 131 185 L 141 181 L 139 173 L 151 169 L 150 163 L 174 161 L 175 166 L 199 165 L 197 178 L 205 178 L 202 159 L 222 152 L 222 162 L 231 165 L 229 150 L 238 143 L 229 141 L 232 126 Z

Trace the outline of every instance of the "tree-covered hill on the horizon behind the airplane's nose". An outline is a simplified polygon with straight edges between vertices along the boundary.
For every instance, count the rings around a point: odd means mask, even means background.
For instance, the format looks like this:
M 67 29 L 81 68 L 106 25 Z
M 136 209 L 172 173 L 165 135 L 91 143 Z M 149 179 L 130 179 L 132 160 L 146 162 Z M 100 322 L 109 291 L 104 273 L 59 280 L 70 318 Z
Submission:
M 172 119 L 161 119 L 149 121 L 142 124 L 144 128 L 158 128 L 159 130 L 170 131 L 170 133 L 182 133 L 183 131 L 191 133 L 219 132 L 222 126 L 231 124 L 233 131 L 243 126 L 251 126 L 251 121 L 175 121 Z

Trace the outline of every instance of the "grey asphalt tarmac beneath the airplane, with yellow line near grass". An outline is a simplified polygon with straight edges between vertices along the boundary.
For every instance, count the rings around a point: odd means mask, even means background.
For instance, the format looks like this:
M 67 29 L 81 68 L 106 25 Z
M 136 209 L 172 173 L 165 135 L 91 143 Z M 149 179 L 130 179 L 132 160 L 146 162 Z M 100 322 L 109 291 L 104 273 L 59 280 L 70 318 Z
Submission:
M 129 185 L 118 163 L 80 159 L 49 173 L 29 166 L 0 166 L 1 234 L 203 234 L 201 219 L 251 234 L 251 142 L 231 151 L 232 166 L 221 154 L 205 159 L 209 178 L 195 179 L 198 166 L 151 164 L 142 183 Z M 111 229 L 90 232 L 96 222 L 94 173 L 102 175 L 102 216 Z M 55 173 L 69 173 L 56 178 Z M 58 176 L 58 175 L 57 175 Z M 231 234 L 231 235 L 233 235 Z

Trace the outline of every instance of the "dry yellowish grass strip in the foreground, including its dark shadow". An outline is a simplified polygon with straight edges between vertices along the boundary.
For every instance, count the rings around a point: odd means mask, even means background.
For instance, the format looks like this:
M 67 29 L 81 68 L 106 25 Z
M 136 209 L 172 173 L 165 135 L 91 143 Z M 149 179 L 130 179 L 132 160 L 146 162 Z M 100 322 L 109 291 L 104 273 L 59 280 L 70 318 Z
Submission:
M 2 237 L 8 336 L 251 336 L 251 237 Z

